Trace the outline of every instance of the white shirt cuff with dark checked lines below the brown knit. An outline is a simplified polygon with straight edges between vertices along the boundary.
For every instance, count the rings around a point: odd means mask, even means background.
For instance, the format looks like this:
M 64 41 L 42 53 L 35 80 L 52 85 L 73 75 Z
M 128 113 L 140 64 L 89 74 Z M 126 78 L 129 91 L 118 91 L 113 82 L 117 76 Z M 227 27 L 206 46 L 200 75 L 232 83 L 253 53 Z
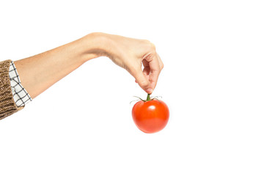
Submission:
M 25 106 L 25 104 L 32 101 L 32 98 L 30 97 L 29 93 L 26 92 L 26 89 L 24 89 L 24 87 L 21 85 L 21 80 L 18 76 L 14 62 L 10 63 L 9 76 L 12 87 L 12 95 L 16 106 Z

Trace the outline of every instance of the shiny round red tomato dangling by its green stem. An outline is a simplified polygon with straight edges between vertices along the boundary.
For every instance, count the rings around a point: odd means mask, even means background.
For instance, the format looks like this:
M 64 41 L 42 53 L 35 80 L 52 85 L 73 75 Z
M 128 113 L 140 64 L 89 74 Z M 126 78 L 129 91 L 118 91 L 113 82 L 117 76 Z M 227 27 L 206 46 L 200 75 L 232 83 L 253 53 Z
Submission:
M 162 100 L 140 100 L 132 109 L 132 117 L 139 130 L 145 133 L 161 131 L 169 120 L 169 109 Z

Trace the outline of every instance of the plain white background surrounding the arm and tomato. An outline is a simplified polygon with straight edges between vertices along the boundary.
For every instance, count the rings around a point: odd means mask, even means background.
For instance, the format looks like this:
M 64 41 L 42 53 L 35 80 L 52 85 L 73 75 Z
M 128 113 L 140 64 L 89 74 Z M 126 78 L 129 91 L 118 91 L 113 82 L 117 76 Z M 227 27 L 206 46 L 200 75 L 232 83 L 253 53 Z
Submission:
M 150 40 L 170 120 L 139 131 L 145 92 L 93 59 L 0 121 L 0 175 L 256 175 L 255 1 L 1 1 L 0 58 L 90 32 Z

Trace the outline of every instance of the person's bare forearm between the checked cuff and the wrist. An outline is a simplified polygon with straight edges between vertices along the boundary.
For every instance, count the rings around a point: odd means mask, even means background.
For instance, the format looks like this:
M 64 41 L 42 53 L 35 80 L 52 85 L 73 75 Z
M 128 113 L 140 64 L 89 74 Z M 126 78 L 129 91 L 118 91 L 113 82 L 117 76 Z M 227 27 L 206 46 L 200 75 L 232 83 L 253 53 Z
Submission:
M 89 34 L 42 54 L 18 60 L 15 66 L 23 87 L 35 98 L 84 62 L 103 52 L 98 34 Z

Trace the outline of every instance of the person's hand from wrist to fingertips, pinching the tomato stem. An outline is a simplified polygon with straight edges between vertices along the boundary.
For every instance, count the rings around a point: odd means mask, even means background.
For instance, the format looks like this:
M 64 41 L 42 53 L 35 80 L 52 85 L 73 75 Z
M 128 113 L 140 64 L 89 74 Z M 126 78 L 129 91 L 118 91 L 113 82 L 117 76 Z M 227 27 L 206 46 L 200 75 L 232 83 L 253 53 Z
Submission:
M 156 47 L 148 40 L 137 40 L 112 34 L 100 33 L 106 42 L 103 55 L 125 68 L 145 92 L 151 94 L 164 67 L 156 53 Z M 144 69 L 142 70 L 142 64 Z

